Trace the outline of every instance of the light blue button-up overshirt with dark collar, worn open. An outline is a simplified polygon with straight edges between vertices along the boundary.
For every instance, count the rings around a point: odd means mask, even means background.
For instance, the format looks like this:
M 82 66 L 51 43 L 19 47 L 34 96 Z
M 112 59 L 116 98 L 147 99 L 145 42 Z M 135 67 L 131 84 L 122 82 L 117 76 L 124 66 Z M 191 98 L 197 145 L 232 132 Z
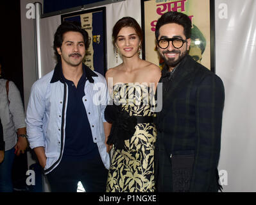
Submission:
M 58 63 L 55 70 L 33 84 L 26 112 L 27 135 L 31 149 L 45 149 L 45 174 L 58 166 L 64 151 L 68 86 L 61 78 L 61 66 L 61 63 Z M 85 83 L 83 104 L 87 111 L 93 141 L 98 145 L 103 164 L 109 168 L 110 157 L 105 145 L 103 127 L 103 122 L 106 122 L 104 111 L 108 101 L 107 83 L 98 72 L 90 70 L 85 65 L 83 69 L 88 78 Z

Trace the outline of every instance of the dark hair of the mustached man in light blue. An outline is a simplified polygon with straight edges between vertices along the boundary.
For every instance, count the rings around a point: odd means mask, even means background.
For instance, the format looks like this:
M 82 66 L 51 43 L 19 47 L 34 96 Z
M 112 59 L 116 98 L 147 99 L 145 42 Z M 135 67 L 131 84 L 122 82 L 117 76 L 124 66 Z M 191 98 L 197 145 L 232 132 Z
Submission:
M 63 43 L 63 35 L 69 31 L 79 32 L 83 35 L 83 40 L 85 42 L 85 49 L 89 47 L 88 33 L 84 29 L 81 28 L 80 23 L 76 21 L 64 21 L 60 26 L 58 26 L 55 39 L 53 42 L 53 49 L 55 50 L 55 56 L 58 62 L 61 60 L 60 54 L 58 54 L 57 47 L 61 47 Z

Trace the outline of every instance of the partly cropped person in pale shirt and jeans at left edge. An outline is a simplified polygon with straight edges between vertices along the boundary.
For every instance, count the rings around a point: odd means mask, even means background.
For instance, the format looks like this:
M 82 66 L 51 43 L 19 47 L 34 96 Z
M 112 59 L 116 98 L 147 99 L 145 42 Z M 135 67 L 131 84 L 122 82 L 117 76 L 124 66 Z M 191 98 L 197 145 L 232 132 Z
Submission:
M 14 156 L 26 151 L 28 141 L 21 94 L 12 81 L 3 78 L 2 71 L 3 62 L 0 60 L 0 118 L 5 142 L 4 159 L 0 164 L 0 192 L 13 192 Z

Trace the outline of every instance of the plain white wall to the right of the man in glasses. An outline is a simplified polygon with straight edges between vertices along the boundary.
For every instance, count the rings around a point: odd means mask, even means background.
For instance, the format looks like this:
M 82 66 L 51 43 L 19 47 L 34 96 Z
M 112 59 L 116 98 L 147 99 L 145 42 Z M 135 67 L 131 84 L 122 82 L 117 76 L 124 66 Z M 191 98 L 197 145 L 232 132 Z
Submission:
M 215 0 L 216 74 L 225 85 L 219 169 L 225 192 L 256 192 L 256 1 Z

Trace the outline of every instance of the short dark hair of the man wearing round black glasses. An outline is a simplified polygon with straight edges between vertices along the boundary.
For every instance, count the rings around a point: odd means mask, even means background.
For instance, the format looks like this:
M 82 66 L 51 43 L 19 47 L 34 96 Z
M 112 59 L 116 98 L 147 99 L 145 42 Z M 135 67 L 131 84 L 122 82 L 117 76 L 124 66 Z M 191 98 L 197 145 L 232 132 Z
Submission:
M 191 27 L 192 23 L 191 20 L 187 15 L 180 12 L 167 12 L 164 13 L 158 20 L 157 20 L 157 26 L 155 26 L 155 37 L 158 40 L 159 37 L 159 29 L 161 26 L 164 26 L 165 24 L 179 24 L 180 26 L 183 26 L 184 28 L 184 35 L 186 38 L 191 37 Z

